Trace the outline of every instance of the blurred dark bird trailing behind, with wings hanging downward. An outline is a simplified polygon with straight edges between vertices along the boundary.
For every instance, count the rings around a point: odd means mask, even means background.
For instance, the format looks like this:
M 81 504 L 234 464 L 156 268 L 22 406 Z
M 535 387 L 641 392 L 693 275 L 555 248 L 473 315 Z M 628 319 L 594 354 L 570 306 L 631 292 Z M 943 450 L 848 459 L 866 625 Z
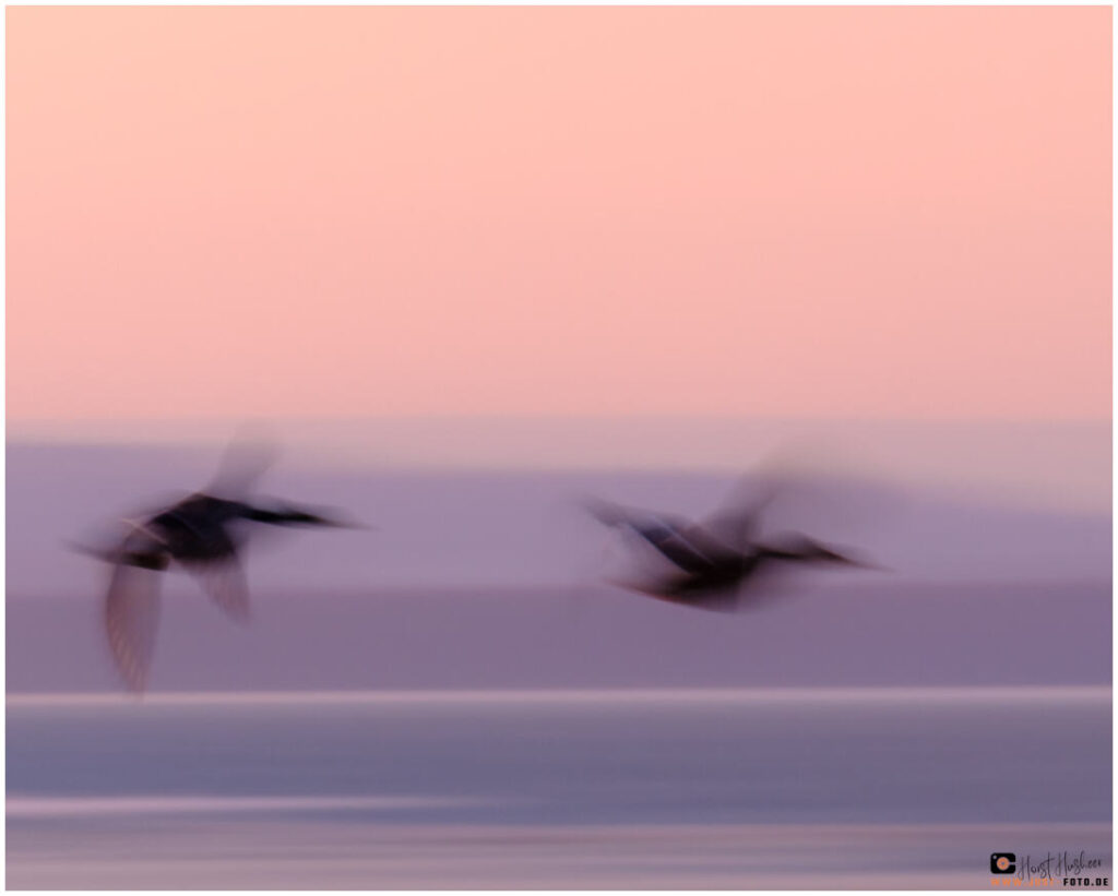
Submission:
M 78 546 L 113 564 L 105 629 L 113 660 L 131 690 L 143 692 L 148 683 L 159 625 L 160 573 L 178 564 L 198 578 L 228 616 L 247 622 L 248 589 L 240 553 L 248 524 L 354 527 L 307 508 L 245 501 L 244 493 L 269 459 L 235 446 L 207 490 L 140 521 L 124 521 L 125 535 L 108 549 Z

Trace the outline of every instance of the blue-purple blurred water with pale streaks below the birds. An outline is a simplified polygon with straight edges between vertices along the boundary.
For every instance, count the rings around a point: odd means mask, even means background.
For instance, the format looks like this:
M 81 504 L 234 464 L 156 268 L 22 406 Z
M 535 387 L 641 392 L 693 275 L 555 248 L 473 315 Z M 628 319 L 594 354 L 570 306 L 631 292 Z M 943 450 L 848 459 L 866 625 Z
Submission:
M 1110 757 L 1105 688 L 10 697 L 8 883 L 986 887 L 1109 869 Z

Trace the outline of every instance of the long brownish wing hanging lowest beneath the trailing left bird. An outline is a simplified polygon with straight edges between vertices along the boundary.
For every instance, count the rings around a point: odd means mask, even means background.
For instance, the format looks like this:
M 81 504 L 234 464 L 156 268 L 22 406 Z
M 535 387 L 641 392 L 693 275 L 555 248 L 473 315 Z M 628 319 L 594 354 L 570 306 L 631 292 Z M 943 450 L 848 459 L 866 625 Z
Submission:
M 142 693 L 159 628 L 159 570 L 117 563 L 105 598 L 105 631 L 113 661 L 130 690 Z

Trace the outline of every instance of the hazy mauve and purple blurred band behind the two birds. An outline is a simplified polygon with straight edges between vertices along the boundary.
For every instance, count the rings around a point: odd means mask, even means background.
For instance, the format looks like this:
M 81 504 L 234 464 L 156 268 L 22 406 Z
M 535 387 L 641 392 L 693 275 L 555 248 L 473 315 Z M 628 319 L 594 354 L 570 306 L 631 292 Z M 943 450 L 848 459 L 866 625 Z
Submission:
M 364 460 L 357 446 L 339 456 L 292 437 L 260 496 L 338 507 L 376 528 L 254 533 L 250 630 L 228 625 L 191 576 L 165 576 L 152 686 L 1109 680 L 1105 426 L 860 425 L 811 444 L 781 441 L 781 429 L 710 420 L 383 423 L 367 428 Z M 681 459 L 695 458 L 689 469 L 652 455 L 647 446 L 670 445 L 681 430 L 751 461 L 747 483 L 774 458 L 809 463 L 830 479 L 806 498 L 778 495 L 762 514 L 767 531 L 804 532 L 885 570 L 789 571 L 784 599 L 740 618 L 609 587 L 629 566 L 629 545 L 586 513 L 584 496 L 702 520 L 740 479 L 726 468 L 729 457 L 681 447 Z M 547 446 L 555 451 L 565 432 L 571 463 L 549 469 Z M 330 439 L 331 448 L 344 445 Z M 428 464 L 391 458 L 391 447 L 378 463 L 376 446 L 395 442 L 402 455 L 406 439 L 420 456 L 426 444 Z M 470 440 L 473 463 L 455 461 L 452 446 Z M 517 444 L 524 450 L 513 463 Z M 644 464 L 594 464 L 598 446 L 619 456 L 626 444 Z M 117 687 L 100 631 L 108 566 L 67 543 L 94 542 L 115 533 L 117 520 L 203 487 L 222 449 L 9 444 L 8 608 L 19 633 L 8 645 L 10 689 Z

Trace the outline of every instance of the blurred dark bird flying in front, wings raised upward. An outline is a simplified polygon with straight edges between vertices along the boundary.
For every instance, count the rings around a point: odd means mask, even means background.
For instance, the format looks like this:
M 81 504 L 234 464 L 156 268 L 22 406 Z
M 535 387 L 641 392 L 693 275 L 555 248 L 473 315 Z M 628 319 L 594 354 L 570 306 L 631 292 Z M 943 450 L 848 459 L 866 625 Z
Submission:
M 659 600 L 705 610 L 738 609 L 755 592 L 761 573 L 787 564 L 835 564 L 870 568 L 869 563 L 804 535 L 789 533 L 757 541 L 761 511 L 776 497 L 770 487 L 746 507 L 730 507 L 702 524 L 622 507 L 588 503 L 603 524 L 636 535 L 666 560 L 671 570 L 644 582 L 615 582 Z

